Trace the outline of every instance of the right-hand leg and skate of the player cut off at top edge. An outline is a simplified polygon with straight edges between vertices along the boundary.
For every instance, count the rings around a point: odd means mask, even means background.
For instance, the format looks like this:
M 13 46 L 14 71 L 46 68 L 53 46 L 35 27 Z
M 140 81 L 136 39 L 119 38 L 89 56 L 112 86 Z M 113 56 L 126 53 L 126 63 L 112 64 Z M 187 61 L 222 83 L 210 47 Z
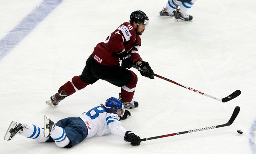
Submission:
M 195 3 L 196 0 L 191 0 L 189 2 L 183 2 L 186 0 L 173 0 L 173 1 L 180 1 L 180 8 L 176 11 L 174 17 L 174 21 L 179 21 L 179 22 L 191 22 L 193 21 L 193 16 L 189 15 L 187 13 L 188 9 L 190 9 L 193 4 Z

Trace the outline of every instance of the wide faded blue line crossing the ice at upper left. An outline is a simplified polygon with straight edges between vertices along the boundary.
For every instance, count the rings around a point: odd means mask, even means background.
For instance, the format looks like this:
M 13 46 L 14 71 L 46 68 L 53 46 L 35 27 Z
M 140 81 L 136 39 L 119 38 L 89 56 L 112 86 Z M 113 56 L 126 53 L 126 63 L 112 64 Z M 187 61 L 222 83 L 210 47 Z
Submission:
M 14 29 L 0 40 L 0 60 L 45 19 L 63 0 L 43 0 Z

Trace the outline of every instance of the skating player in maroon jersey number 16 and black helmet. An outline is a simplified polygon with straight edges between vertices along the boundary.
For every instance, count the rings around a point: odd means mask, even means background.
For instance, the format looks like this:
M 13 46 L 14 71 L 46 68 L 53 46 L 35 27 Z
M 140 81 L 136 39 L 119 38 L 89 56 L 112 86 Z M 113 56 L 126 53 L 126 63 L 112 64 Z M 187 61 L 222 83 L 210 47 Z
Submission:
M 98 43 L 86 61 L 80 76 L 74 76 L 63 84 L 58 93 L 46 101 L 48 105 L 58 105 L 65 97 L 93 84 L 99 79 L 121 87 L 119 99 L 126 108 L 137 108 L 139 103 L 132 101 L 137 84 L 137 75 L 128 70 L 132 65 L 141 68 L 142 76 L 154 79 L 149 63 L 139 55 L 140 35 L 149 25 L 148 16 L 138 10 L 130 15 L 130 22 L 124 22 L 106 40 Z M 121 66 L 119 62 L 122 61 Z

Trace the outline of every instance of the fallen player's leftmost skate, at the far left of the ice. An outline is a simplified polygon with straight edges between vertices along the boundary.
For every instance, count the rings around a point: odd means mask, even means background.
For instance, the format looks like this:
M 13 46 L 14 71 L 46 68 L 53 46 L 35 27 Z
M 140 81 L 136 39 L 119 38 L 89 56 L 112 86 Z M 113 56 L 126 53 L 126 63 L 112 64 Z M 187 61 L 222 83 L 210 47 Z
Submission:
M 16 121 L 12 121 L 8 130 L 5 133 L 4 140 L 11 140 L 15 135 L 22 133 L 24 130 L 24 125 Z

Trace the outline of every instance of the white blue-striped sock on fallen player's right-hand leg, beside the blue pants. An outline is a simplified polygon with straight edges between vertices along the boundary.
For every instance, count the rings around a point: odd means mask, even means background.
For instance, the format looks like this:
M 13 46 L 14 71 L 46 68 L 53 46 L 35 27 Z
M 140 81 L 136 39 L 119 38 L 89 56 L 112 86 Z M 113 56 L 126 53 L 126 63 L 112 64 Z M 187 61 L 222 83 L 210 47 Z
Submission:
M 58 147 L 65 147 L 70 142 L 69 138 L 66 136 L 65 129 L 56 125 L 55 129 L 51 132 L 51 138 L 53 138 Z

